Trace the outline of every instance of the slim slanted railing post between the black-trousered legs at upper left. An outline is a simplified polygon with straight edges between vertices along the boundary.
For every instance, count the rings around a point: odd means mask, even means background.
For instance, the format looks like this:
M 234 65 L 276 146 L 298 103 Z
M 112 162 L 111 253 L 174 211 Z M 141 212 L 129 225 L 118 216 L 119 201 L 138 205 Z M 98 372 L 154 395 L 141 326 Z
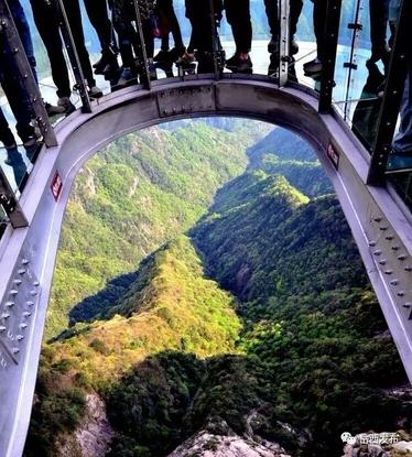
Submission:
M 58 18 L 58 24 L 59 24 L 61 33 L 63 36 L 63 41 L 67 50 L 68 59 L 71 61 L 71 65 L 73 68 L 75 80 L 76 80 L 77 90 L 80 95 L 83 111 L 91 112 L 91 104 L 90 104 L 90 98 L 87 93 L 85 76 L 83 74 L 80 59 L 78 58 L 75 41 L 73 39 L 73 34 L 71 31 L 71 24 L 68 23 L 68 19 L 67 19 L 67 14 L 66 14 L 63 0 L 56 0 L 55 7 L 56 7 L 56 13 Z

